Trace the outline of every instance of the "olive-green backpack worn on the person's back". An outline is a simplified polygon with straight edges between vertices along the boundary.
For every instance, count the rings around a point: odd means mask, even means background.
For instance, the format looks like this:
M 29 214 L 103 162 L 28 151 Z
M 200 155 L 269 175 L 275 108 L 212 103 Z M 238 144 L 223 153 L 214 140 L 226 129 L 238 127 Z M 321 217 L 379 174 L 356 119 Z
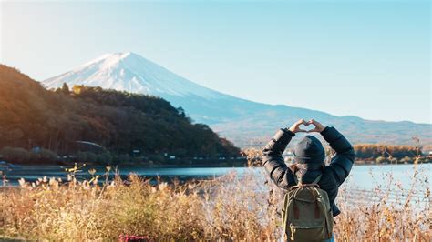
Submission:
M 333 213 L 318 176 L 311 184 L 290 187 L 283 197 L 283 241 L 323 241 L 332 237 Z

